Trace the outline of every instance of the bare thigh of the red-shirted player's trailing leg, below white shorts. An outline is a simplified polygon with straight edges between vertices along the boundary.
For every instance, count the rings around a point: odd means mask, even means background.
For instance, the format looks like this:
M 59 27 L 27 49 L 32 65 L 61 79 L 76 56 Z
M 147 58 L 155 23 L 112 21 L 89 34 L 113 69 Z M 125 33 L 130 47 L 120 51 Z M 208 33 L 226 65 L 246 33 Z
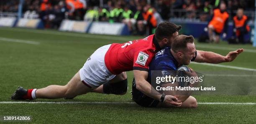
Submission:
M 79 72 L 67 83 L 67 94 L 70 95 L 81 95 L 90 92 L 92 88 L 87 87 L 82 83 Z

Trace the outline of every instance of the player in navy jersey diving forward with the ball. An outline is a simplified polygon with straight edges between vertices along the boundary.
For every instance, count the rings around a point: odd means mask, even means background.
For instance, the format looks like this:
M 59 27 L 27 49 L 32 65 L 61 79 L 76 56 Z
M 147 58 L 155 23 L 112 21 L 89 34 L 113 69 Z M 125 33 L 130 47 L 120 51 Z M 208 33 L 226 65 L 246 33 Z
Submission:
M 243 52 L 243 50 L 239 49 L 235 52 L 239 54 Z M 202 53 L 204 55 L 201 55 Z M 151 71 L 154 71 L 154 70 L 160 70 L 160 71 L 177 70 L 179 66 L 188 65 L 190 61 L 220 63 L 220 60 L 222 58 L 223 56 L 213 52 L 205 52 L 205 51 L 202 52 L 200 50 L 196 50 L 193 36 L 179 35 L 174 39 L 174 42 L 172 42 L 172 48 L 166 47 L 161 51 L 157 52 L 156 55 L 153 57 L 153 59 L 149 64 L 147 81 L 148 83 L 151 84 Z M 191 68 L 189 69 L 192 71 Z M 195 72 L 192 71 L 192 73 L 194 73 L 194 75 L 196 76 Z M 165 77 L 165 75 L 161 75 L 161 76 Z M 143 107 L 174 107 L 170 104 L 165 104 L 163 102 L 160 102 L 159 100 L 148 97 L 147 95 L 143 94 L 138 89 L 136 89 L 136 86 L 137 85 L 136 85 L 135 79 L 133 79 L 132 96 L 133 96 L 133 100 L 137 104 Z M 192 96 L 174 95 L 174 97 L 178 98 L 177 102 L 182 103 L 181 106 L 179 107 L 182 107 L 182 108 L 197 107 L 197 100 Z M 162 99 L 164 99 L 164 95 L 162 95 Z

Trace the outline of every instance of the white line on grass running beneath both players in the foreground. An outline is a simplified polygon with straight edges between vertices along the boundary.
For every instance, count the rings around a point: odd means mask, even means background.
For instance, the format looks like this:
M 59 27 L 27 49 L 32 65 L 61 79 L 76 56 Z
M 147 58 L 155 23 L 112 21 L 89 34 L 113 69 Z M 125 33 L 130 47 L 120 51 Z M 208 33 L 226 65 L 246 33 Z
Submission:
M 135 104 L 135 102 L 0 102 L 0 104 Z M 254 102 L 199 102 L 198 104 L 237 104 L 237 105 L 256 105 Z

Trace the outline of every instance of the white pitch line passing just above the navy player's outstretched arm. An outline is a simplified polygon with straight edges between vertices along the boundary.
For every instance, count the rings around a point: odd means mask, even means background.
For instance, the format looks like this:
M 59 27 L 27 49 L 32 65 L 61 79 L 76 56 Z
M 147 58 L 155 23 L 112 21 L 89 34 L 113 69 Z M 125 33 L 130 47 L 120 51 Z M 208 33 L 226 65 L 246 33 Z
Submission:
M 215 49 L 215 50 L 237 50 L 238 48 L 231 48 L 231 47 L 218 47 L 218 46 L 207 46 L 207 45 L 196 45 L 198 48 L 207 48 L 207 49 Z M 256 50 L 251 49 L 244 49 L 244 52 L 253 52 L 256 53 Z

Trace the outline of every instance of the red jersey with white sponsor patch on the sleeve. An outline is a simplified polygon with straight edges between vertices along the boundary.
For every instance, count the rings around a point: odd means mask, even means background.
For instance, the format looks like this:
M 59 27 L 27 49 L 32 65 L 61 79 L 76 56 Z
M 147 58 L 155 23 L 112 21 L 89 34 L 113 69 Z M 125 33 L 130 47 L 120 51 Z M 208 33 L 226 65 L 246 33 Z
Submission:
M 161 48 L 154 35 L 123 44 L 114 43 L 105 54 L 105 65 L 112 74 L 131 70 L 148 71 L 148 65 L 158 50 Z

